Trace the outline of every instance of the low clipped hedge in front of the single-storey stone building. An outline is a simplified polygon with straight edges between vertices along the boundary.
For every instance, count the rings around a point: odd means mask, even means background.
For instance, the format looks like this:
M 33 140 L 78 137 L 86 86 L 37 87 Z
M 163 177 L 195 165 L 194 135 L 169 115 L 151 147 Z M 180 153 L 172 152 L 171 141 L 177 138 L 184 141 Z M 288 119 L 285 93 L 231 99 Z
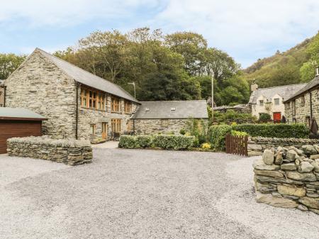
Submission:
M 121 135 L 119 148 L 150 148 L 186 150 L 196 143 L 194 136 L 184 135 Z

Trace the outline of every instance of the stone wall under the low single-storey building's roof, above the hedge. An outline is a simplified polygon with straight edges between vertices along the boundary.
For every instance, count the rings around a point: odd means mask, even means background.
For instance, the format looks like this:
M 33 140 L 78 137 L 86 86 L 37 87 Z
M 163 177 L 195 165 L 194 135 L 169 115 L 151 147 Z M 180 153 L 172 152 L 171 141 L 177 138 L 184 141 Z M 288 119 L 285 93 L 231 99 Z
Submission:
M 135 119 L 135 133 L 140 135 L 148 135 L 152 133 L 177 133 L 185 128 L 187 118 L 172 118 L 172 119 Z M 203 119 L 207 123 L 207 119 Z

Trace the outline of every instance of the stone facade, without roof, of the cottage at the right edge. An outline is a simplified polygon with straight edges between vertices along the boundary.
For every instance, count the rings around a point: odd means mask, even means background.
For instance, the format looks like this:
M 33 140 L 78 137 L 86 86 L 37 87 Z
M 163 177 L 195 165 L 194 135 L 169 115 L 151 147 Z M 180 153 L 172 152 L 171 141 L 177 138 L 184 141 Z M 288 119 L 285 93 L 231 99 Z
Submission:
M 319 89 L 310 91 L 311 101 L 313 108 L 313 116 L 319 121 Z M 286 119 L 289 123 L 306 123 L 308 124 L 308 118 L 310 118 L 310 93 L 306 92 L 303 96 L 299 96 L 294 101 L 285 102 Z M 302 103 L 302 99 L 305 99 L 305 103 Z M 295 102 L 295 103 L 293 103 Z M 296 113 L 293 113 L 293 104 L 296 104 Z

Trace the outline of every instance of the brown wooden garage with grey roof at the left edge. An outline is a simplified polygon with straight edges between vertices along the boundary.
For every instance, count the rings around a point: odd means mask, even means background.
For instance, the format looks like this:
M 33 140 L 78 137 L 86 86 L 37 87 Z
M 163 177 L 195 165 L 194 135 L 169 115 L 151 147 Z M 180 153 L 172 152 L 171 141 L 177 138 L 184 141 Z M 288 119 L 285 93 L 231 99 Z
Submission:
M 0 107 L 0 154 L 6 153 L 6 140 L 13 137 L 40 136 L 46 118 L 28 109 Z

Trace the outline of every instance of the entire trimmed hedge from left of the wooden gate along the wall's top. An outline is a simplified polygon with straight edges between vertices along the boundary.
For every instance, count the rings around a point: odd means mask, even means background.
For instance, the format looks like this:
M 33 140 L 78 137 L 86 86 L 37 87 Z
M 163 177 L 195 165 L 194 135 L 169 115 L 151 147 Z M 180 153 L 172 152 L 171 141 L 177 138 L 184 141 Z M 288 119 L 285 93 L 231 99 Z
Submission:
M 211 145 L 216 150 L 225 150 L 226 134 L 232 133 L 232 130 L 245 132 L 252 137 L 267 138 L 308 138 L 309 129 L 301 123 L 245 123 L 241 125 L 217 125 L 211 126 L 208 130 L 208 137 Z M 242 134 L 242 133 L 241 133 Z

